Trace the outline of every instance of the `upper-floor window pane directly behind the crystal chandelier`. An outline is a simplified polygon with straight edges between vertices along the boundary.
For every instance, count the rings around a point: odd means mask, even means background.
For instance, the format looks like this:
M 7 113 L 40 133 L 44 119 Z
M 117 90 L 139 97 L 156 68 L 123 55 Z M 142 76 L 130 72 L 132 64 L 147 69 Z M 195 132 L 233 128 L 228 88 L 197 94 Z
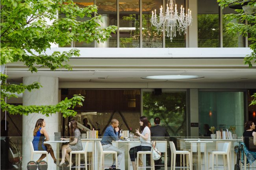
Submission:
M 181 5 L 183 6 L 183 7 L 185 7 L 185 0 L 176 0 L 176 4 L 177 4 L 177 9 L 178 9 L 178 12 L 180 13 L 180 7 L 181 7 Z M 166 5 L 165 5 L 166 6 Z M 185 11 L 187 11 L 186 9 L 185 9 Z M 193 16 L 192 16 L 192 18 L 193 18 Z M 173 37 L 173 41 L 171 42 L 171 40 L 170 40 L 170 37 L 167 37 L 166 35 L 165 35 L 165 48 L 184 48 L 184 47 L 186 47 L 186 43 L 185 43 L 185 34 L 184 34 L 184 32 L 183 33 L 181 33 L 181 35 L 179 34 L 179 32 L 178 31 L 176 31 L 176 37 Z

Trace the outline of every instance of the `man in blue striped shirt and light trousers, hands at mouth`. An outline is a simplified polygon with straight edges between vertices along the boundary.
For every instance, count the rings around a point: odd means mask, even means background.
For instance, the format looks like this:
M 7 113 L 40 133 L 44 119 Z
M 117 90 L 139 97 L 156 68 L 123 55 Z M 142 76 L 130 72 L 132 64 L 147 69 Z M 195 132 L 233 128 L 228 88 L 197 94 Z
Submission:
M 112 119 L 111 124 L 106 128 L 102 140 L 100 141 L 102 144 L 103 150 L 116 151 L 117 152 L 117 165 L 119 166 L 122 157 L 124 156 L 124 151 L 118 149 L 117 147 L 112 145 L 112 141 L 118 140 L 118 128 L 119 122 L 117 119 Z M 115 169 L 116 160 L 113 162 L 111 169 Z

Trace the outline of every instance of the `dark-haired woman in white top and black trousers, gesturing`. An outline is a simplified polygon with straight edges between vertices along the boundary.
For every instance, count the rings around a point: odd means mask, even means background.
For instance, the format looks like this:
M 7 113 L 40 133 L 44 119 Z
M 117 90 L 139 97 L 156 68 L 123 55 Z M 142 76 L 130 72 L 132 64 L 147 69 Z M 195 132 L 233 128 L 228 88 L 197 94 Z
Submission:
M 139 136 L 134 136 L 141 141 L 140 146 L 135 146 L 130 149 L 129 154 L 132 161 L 132 167 L 136 170 L 135 158 L 137 158 L 137 152 L 139 151 L 150 151 L 151 150 L 151 139 L 150 139 L 150 129 L 148 128 L 148 119 L 145 116 L 139 118 L 139 124 L 141 125 L 141 132 L 139 129 L 136 130 Z

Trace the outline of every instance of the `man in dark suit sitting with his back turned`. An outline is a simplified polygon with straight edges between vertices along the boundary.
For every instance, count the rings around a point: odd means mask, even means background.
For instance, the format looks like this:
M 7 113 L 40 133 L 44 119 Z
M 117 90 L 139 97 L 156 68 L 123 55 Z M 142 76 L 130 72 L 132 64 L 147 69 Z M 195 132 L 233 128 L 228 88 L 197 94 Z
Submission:
M 151 132 L 151 139 L 154 141 L 164 141 L 165 137 L 170 137 L 169 133 L 167 132 L 166 128 L 163 126 L 160 126 L 160 118 L 156 117 L 154 119 L 154 123 L 155 126 L 152 126 L 150 128 L 150 132 Z M 161 153 L 161 155 L 163 155 L 163 153 Z M 167 156 L 167 155 L 165 155 Z M 155 169 L 160 169 L 161 166 L 157 166 L 157 165 L 161 165 L 161 158 L 159 160 L 155 161 Z

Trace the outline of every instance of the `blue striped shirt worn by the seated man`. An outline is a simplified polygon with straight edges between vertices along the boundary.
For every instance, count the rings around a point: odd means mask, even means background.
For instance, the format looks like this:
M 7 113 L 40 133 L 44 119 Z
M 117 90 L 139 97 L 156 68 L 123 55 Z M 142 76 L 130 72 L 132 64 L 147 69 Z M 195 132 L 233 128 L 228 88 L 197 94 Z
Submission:
M 106 128 L 102 140 L 100 141 L 101 144 L 112 144 L 112 141 L 117 141 L 118 139 L 118 132 L 115 132 L 115 129 L 109 125 Z

